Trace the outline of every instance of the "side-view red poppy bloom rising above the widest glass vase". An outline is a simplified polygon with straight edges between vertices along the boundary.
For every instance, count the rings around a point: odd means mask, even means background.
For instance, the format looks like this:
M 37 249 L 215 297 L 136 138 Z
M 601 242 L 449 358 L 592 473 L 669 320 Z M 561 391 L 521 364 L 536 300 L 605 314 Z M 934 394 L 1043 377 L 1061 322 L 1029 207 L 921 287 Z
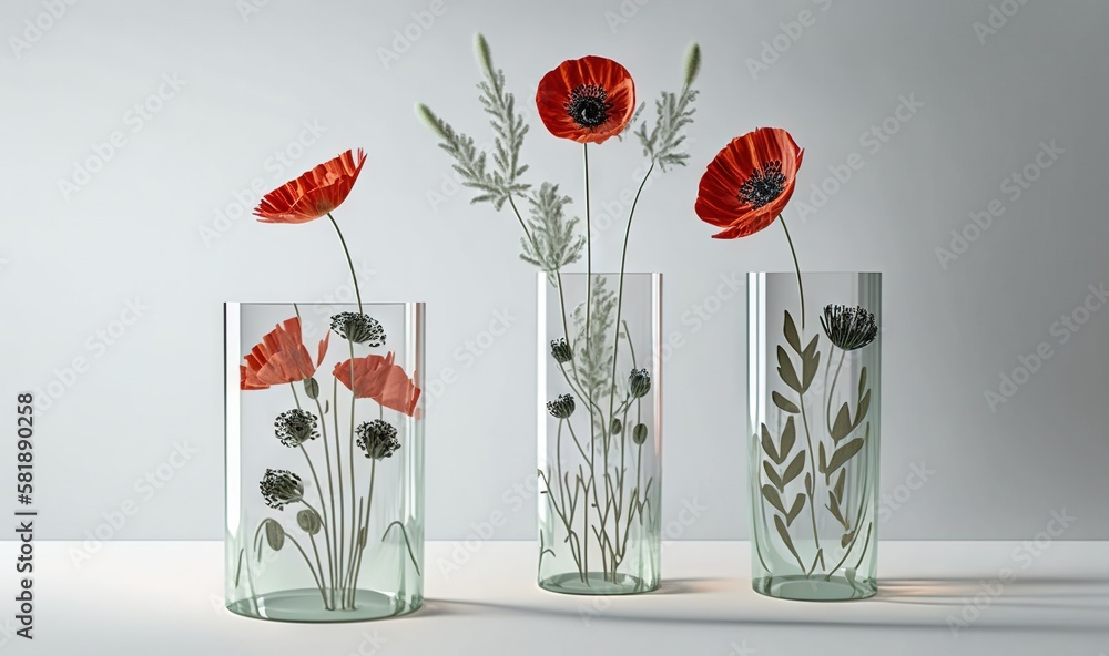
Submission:
M 346 201 L 365 163 L 362 148 L 357 156 L 347 151 L 266 194 L 254 215 L 261 223 L 307 223 L 325 216 Z

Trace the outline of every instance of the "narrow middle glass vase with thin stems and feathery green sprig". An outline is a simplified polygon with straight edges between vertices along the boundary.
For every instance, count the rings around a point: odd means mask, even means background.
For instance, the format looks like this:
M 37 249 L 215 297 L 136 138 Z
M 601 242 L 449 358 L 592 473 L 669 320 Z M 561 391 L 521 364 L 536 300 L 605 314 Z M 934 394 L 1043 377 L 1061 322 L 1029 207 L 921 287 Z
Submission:
M 661 298 L 661 274 L 539 275 L 543 590 L 659 586 Z

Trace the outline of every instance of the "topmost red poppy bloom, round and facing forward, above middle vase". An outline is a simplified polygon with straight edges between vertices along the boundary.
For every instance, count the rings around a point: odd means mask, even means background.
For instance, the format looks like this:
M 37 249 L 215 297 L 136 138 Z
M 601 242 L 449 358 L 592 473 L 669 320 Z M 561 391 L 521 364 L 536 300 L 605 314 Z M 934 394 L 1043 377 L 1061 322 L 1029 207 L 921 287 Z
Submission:
M 635 113 L 635 82 L 611 59 L 571 59 L 543 75 L 536 104 L 554 136 L 601 143 L 620 134 Z

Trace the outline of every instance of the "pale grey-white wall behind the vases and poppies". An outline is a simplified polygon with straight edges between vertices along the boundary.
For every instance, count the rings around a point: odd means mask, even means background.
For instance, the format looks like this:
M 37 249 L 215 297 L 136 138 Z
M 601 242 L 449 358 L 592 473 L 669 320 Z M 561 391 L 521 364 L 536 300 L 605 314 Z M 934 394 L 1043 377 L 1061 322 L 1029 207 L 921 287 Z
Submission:
M 260 225 L 248 209 L 357 146 L 369 162 L 338 216 L 365 289 L 427 301 L 428 378 L 457 375 L 429 412 L 427 535 L 465 537 L 495 512 L 496 537 L 533 535 L 533 273 L 509 215 L 444 191 L 446 156 L 411 111 L 424 100 L 487 134 L 481 30 L 529 112 L 562 59 L 614 58 L 651 100 L 703 44 L 693 165 L 644 193 L 630 260 L 664 271 L 665 329 L 685 341 L 667 361 L 664 515 L 703 510 L 682 537 L 746 535 L 744 295 L 722 280 L 785 269 L 788 250 L 776 230 L 710 239 L 693 201 L 716 151 L 760 125 L 806 148 L 787 215 L 803 266 L 885 274 L 882 488 L 901 501 L 883 537 L 1031 537 L 1064 509 L 1077 517 L 1067 537 L 1109 537 L 1109 309 L 1080 309 L 1109 284 L 1106 3 L 110 0 L 54 21 L 44 4 L 0 6 L 0 408 L 64 389 L 37 426 L 41 536 L 222 536 L 221 304 L 349 293 L 329 226 Z M 1011 13 L 996 29 L 991 7 Z M 53 24 L 31 42 L 27 20 Z M 923 106 L 891 119 L 903 99 Z M 862 136 L 882 125 L 895 134 Z M 102 170 L 63 192 L 113 135 Z M 1052 143 L 1061 154 L 1041 170 Z M 594 152 L 601 222 L 641 160 L 633 142 Z M 853 153 L 849 181 L 826 182 Z M 580 150 L 536 123 L 526 156 L 580 212 Z M 1026 166 L 1027 188 L 1005 182 Z M 805 211 L 825 183 L 838 188 Z M 976 232 L 971 213 L 991 202 L 1004 214 Z M 942 263 L 953 230 L 976 238 Z M 598 235 L 599 268 L 617 266 L 618 232 Z M 706 305 L 719 310 L 699 317 Z M 1088 320 L 1071 330 L 1064 316 Z M 505 336 L 467 355 L 497 321 Z M 1050 358 L 990 408 L 985 392 L 1041 342 Z M 83 370 L 68 371 L 77 358 Z M 914 467 L 930 473 L 909 493 Z M 139 482 L 159 468 L 172 478 Z M 10 493 L 11 445 L 0 469 Z M 105 529 L 128 502 L 134 514 Z

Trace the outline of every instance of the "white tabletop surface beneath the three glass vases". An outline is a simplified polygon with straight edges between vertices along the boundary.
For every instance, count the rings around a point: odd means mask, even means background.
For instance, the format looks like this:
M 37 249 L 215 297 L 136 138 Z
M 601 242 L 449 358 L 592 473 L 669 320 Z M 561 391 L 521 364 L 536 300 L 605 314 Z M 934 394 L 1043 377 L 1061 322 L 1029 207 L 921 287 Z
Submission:
M 74 546 L 35 545 L 35 639 L 13 635 L 8 601 L 0 654 L 1109 655 L 1105 542 L 884 542 L 878 595 L 834 604 L 752 592 L 743 542 L 665 543 L 662 587 L 625 597 L 539 590 L 531 543 L 434 542 L 424 608 L 332 625 L 226 612 L 218 542 L 105 543 L 80 566 Z M 14 562 L 17 549 L 3 543 L 3 557 Z M 1010 580 L 990 583 L 1006 567 Z M 3 570 L 12 599 L 17 580 Z

